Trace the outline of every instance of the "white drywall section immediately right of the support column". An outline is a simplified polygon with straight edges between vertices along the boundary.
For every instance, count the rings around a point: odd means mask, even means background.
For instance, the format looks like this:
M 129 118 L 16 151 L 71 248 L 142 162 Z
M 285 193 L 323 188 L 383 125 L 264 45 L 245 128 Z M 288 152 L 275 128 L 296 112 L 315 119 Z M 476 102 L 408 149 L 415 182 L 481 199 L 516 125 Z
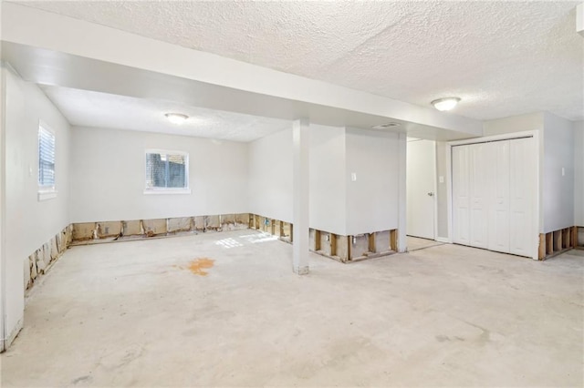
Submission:
M 310 126 L 310 228 L 346 235 L 345 128 Z

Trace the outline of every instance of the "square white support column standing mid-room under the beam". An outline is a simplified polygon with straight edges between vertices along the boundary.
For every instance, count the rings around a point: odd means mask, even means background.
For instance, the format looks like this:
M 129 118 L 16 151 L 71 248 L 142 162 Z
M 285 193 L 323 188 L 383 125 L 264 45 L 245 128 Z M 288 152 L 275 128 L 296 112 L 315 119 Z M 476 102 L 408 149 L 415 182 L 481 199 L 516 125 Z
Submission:
M 308 133 L 307 118 L 292 124 L 293 153 L 293 228 L 292 267 L 298 275 L 308 274 Z

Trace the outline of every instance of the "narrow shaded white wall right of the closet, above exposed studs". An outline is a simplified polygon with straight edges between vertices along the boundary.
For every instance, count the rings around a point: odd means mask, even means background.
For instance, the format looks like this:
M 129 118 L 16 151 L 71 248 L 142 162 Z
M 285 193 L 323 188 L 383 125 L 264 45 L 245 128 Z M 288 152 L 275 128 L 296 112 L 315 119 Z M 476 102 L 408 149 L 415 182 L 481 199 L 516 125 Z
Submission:
M 574 128 L 571 121 L 547 112 L 544 119 L 541 185 L 547 233 L 574 225 Z

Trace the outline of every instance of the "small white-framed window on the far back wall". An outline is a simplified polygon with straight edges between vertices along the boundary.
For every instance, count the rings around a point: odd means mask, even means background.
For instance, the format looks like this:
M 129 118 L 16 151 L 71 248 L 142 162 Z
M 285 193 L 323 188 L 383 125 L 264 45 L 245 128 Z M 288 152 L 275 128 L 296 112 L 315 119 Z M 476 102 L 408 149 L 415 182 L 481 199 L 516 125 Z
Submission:
M 144 194 L 190 194 L 189 154 L 180 151 L 146 150 Z

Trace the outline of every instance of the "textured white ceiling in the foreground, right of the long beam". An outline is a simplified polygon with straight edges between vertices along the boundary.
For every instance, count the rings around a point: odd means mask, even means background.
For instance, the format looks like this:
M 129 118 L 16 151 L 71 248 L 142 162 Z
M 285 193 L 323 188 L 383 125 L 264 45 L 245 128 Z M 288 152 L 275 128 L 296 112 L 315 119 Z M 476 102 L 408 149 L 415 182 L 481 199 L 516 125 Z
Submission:
M 579 2 L 24 2 L 477 119 L 584 119 Z

